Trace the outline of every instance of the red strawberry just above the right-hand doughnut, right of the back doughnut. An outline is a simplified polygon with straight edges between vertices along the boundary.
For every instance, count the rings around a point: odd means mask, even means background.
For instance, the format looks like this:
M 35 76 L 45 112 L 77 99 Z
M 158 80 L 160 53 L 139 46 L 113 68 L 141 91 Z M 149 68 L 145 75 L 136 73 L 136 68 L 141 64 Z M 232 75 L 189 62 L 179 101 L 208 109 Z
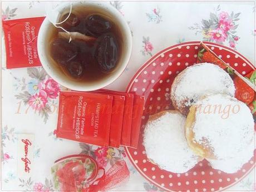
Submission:
M 235 84 L 235 97 L 249 105 L 254 99 L 254 90 L 247 85 L 240 77 L 236 76 L 234 78 Z

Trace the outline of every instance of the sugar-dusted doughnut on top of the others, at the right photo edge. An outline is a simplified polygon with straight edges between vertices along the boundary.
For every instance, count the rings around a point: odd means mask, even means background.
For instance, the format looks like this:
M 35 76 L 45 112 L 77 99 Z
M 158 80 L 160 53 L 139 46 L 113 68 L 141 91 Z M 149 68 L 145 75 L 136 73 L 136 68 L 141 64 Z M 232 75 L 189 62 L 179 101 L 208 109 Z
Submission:
M 228 95 L 208 96 L 191 106 L 185 134 L 195 154 L 206 159 L 237 163 L 235 158 L 247 152 L 244 163 L 253 156 L 249 147 L 254 144 L 253 115 L 247 105 Z

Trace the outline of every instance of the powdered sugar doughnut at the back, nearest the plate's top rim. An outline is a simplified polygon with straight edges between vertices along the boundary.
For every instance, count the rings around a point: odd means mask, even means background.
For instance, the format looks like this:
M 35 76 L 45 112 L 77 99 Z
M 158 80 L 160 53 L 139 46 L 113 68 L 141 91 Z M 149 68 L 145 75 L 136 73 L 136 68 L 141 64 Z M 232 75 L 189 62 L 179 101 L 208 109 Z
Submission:
M 175 77 L 171 86 L 171 101 L 176 110 L 188 115 L 189 107 L 205 95 L 235 94 L 232 78 L 218 65 L 199 63 Z

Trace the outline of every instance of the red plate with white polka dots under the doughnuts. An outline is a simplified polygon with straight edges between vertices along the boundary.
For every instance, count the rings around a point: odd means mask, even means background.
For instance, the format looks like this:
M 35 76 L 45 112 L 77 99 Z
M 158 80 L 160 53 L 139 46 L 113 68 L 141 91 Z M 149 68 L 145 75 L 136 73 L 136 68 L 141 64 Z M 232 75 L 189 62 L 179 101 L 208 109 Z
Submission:
M 240 74 L 246 75 L 255 67 L 240 53 L 215 43 L 204 42 Z M 150 58 L 132 78 L 127 92 L 145 96 L 141 134 L 137 149 L 126 147 L 127 155 L 139 173 L 152 184 L 166 191 L 220 191 L 242 180 L 255 166 L 254 158 L 235 174 L 226 174 L 211 168 L 208 161 L 199 162 L 184 174 L 161 170 L 146 156 L 142 144 L 142 133 L 149 115 L 173 109 L 169 99 L 171 84 L 175 76 L 196 62 L 200 42 L 186 42 L 171 46 Z M 255 156 L 255 154 L 254 154 Z

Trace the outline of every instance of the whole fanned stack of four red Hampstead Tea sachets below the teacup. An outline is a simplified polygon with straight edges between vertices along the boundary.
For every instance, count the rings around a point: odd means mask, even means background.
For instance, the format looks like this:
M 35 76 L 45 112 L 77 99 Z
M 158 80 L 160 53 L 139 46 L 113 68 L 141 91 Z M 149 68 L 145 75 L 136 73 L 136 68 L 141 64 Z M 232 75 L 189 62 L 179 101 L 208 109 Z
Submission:
M 111 90 L 62 91 L 56 136 L 100 146 L 137 147 L 144 96 Z

